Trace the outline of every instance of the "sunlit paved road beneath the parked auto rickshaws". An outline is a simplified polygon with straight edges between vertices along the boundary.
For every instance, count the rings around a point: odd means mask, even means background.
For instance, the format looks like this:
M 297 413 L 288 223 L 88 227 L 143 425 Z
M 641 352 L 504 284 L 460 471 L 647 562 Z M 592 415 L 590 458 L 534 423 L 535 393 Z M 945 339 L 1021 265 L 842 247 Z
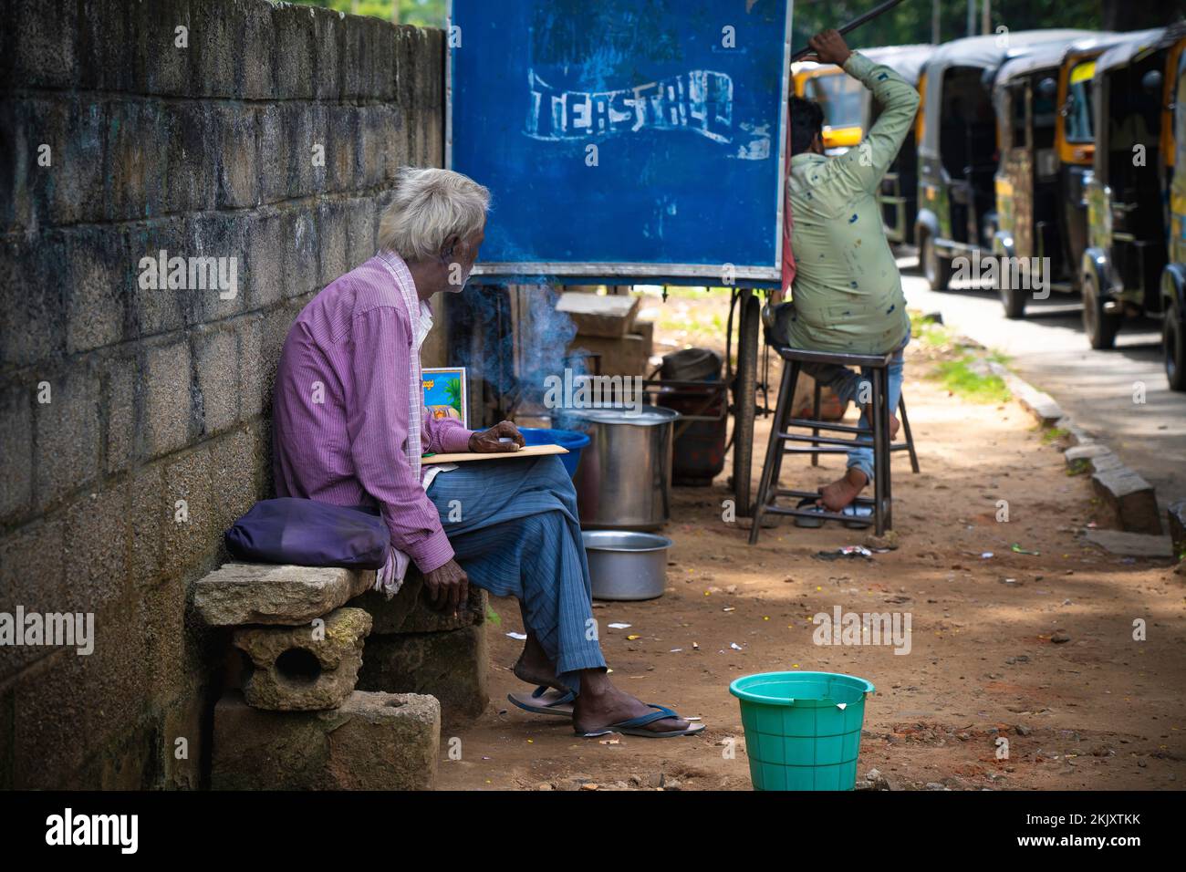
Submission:
M 898 263 L 911 307 L 939 311 L 957 332 L 1008 355 L 1021 376 L 1144 476 L 1162 507 L 1186 498 L 1186 393 L 1169 390 L 1155 322 L 1126 322 L 1114 351 L 1092 351 L 1078 298 L 1052 293 L 1032 303 L 1025 320 L 1013 322 L 994 291 L 956 284 L 936 293 L 918 274 L 917 259 Z M 1137 383 L 1144 386 L 1144 403 L 1134 402 Z

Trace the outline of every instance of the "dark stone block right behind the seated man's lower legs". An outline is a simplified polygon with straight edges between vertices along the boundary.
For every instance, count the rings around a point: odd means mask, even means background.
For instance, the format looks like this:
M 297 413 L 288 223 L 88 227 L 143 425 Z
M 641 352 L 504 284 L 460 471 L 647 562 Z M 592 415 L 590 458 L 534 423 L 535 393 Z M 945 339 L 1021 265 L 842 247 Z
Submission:
M 485 626 L 448 632 L 371 635 L 363 653 L 363 690 L 428 693 L 440 700 L 446 724 L 480 715 L 489 702 Z

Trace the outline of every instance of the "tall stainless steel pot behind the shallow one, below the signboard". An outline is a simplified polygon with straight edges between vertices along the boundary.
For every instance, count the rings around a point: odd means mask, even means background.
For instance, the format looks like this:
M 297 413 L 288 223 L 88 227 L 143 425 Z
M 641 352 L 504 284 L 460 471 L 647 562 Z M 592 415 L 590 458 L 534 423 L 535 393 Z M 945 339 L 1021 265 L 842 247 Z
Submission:
M 652 530 L 671 517 L 671 443 L 680 413 L 637 409 L 566 409 L 566 429 L 587 433 L 573 482 L 581 527 Z

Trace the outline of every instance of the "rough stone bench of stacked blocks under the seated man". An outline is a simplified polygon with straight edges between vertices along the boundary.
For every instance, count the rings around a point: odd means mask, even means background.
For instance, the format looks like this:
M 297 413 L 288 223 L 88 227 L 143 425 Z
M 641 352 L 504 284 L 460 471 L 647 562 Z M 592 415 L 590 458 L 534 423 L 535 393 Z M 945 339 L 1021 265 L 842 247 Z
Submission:
M 374 583 L 374 572 L 270 564 L 227 564 L 197 581 L 195 610 L 231 629 L 238 654 L 215 707 L 216 788 L 432 787 L 442 720 L 486 707 L 486 593 L 471 587 L 453 617 L 429 609 L 415 571 L 390 600 Z M 356 733 L 382 759 L 340 757 L 339 745 L 368 746 L 338 743 Z M 393 776 L 390 747 L 413 739 L 400 759 L 432 759 L 431 771 Z M 281 777 L 269 760 L 286 757 Z

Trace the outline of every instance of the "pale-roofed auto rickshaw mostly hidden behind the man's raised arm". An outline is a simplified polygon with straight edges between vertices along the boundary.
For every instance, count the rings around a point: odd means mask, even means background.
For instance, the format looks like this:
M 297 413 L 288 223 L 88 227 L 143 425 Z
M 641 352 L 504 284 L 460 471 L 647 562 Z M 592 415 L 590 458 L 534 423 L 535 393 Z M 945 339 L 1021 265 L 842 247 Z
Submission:
M 933 51 L 933 45 L 860 49 L 869 61 L 885 64 L 916 88 L 919 88 L 923 68 Z M 861 128 L 869 129 L 880 114 L 881 107 L 866 90 Z M 881 203 L 881 223 L 885 224 L 886 237 L 891 242 L 914 244 L 914 217 L 918 214 L 918 141 L 914 138 L 914 128 L 906 134 L 898 157 L 893 159 L 890 170 L 882 177 L 878 201 Z

